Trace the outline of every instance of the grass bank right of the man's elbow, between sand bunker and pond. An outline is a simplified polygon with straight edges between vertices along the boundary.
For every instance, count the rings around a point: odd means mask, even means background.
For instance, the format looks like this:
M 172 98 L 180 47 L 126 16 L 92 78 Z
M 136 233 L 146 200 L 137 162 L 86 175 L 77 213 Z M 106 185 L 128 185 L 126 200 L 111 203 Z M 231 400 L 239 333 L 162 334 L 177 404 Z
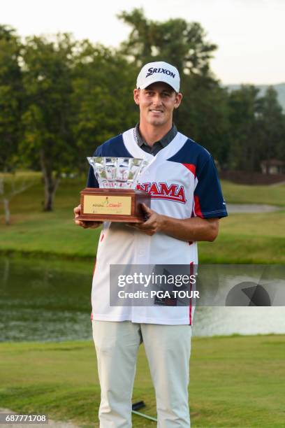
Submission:
M 285 211 L 231 214 L 221 219 L 218 238 L 200 242 L 202 263 L 284 264 Z

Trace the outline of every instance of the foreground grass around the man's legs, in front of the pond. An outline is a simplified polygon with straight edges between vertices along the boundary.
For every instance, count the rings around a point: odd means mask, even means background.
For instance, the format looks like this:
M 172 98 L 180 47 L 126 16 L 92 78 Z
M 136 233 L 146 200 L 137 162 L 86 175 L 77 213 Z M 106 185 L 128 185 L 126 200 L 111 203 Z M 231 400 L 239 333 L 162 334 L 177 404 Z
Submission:
M 0 402 L 13 411 L 98 427 L 100 390 L 91 342 L 1 343 Z M 285 336 L 193 338 L 189 403 L 193 427 L 284 427 Z M 133 401 L 155 400 L 140 347 Z M 134 427 L 155 427 L 133 415 Z

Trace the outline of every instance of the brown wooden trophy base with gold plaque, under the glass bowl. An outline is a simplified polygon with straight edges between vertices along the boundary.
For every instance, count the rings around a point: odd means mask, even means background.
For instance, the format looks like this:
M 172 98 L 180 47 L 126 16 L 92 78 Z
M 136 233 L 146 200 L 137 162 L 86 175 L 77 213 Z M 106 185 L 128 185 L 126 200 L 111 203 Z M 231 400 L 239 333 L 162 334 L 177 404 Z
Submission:
M 142 190 L 97 189 L 86 187 L 80 192 L 81 215 L 85 222 L 145 222 L 141 204 L 150 208 L 150 195 Z

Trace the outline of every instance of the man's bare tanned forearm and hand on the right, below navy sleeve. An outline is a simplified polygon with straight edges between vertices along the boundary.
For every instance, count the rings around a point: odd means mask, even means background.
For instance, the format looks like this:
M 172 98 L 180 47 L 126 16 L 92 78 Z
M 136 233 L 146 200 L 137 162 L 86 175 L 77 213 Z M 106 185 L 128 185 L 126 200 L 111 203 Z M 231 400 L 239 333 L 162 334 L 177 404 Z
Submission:
M 191 217 L 180 220 L 167 215 L 161 215 L 142 204 L 142 208 L 148 216 L 144 223 L 131 224 L 130 226 L 154 235 L 161 231 L 181 241 L 214 241 L 219 233 L 219 218 Z

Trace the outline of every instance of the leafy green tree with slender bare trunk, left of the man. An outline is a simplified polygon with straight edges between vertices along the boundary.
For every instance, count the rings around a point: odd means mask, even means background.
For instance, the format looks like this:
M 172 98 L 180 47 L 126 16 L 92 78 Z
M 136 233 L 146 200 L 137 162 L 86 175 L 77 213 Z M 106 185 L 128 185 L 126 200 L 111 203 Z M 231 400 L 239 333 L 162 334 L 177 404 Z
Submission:
M 22 50 L 27 108 L 22 115 L 22 152 L 32 168 L 41 166 L 45 211 L 52 211 L 61 173 L 73 168 L 75 141 L 71 131 L 71 73 L 75 42 L 68 34 L 54 40 L 30 37 Z

